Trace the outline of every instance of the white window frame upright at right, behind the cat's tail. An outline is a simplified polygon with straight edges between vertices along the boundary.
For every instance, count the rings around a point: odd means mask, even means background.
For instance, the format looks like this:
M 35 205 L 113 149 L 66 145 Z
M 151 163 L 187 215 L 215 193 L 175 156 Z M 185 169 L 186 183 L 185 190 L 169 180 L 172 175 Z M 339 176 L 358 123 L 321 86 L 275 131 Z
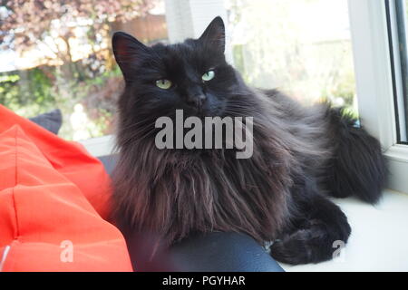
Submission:
M 385 0 L 348 0 L 348 5 L 361 121 L 382 143 L 390 169 L 388 188 L 408 193 L 408 146 L 398 144 L 396 137 L 393 66 Z M 393 14 L 391 23 L 396 24 Z M 395 26 L 392 26 L 394 32 Z M 393 54 L 398 60 L 398 52 Z M 396 91 L 401 93 L 398 75 L 396 79 Z

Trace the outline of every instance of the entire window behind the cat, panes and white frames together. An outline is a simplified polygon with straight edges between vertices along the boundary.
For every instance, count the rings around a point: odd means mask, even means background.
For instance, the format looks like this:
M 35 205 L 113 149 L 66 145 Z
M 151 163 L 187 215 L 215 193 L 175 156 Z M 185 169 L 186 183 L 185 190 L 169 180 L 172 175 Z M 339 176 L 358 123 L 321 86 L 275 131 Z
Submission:
M 0 102 L 26 117 L 62 109 L 65 139 L 90 139 L 97 154 L 112 144 L 92 138 L 112 133 L 121 92 L 110 53 L 113 31 L 147 44 L 176 43 L 199 37 L 220 15 L 228 61 L 249 84 L 278 87 L 303 102 L 327 98 L 358 113 L 382 142 L 389 188 L 408 192 L 408 0 L 123 0 L 112 7 L 111 0 L 94 6 L 93 0 L 27 0 L 18 2 L 24 9 L 10 6 L 16 3 L 0 3 Z M 33 11 L 46 13 L 25 17 Z

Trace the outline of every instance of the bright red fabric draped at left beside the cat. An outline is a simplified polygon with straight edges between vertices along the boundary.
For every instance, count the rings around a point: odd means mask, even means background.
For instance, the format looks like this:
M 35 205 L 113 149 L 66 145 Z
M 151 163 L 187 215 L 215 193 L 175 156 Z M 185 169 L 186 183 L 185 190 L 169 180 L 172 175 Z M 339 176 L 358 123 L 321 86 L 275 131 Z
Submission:
M 131 271 L 121 232 L 104 220 L 109 186 L 102 163 L 81 145 L 0 105 L 2 270 Z

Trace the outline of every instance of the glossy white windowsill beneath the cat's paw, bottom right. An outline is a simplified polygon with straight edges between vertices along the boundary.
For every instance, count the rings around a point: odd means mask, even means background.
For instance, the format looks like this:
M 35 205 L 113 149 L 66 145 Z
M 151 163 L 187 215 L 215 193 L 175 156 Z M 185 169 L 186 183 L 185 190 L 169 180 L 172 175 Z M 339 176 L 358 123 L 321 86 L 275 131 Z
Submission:
M 343 261 L 339 257 L 316 265 L 281 264 L 287 272 L 408 271 L 408 195 L 386 189 L 375 206 L 355 198 L 333 200 L 352 227 Z

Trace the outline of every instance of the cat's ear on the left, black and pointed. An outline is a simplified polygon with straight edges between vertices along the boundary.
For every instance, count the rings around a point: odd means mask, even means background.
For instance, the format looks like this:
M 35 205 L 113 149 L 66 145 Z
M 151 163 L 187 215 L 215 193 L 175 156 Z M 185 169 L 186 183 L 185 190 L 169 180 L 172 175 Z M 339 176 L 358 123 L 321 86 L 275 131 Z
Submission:
M 129 82 L 135 65 L 148 53 L 149 48 L 131 34 L 117 32 L 112 37 L 112 49 L 125 81 Z

